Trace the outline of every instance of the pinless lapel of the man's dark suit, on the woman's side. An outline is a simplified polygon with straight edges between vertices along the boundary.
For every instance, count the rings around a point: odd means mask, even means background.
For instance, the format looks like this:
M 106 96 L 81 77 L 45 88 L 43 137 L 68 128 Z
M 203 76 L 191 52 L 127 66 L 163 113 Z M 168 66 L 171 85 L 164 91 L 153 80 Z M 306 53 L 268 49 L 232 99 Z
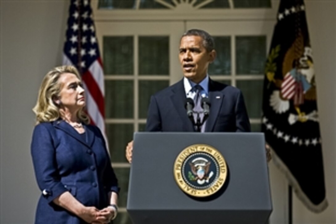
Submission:
M 192 122 L 189 120 L 187 116 L 187 112 L 185 110 L 184 104 L 186 100 L 185 90 L 183 85 L 183 79 L 179 81 L 174 88 L 172 88 L 172 95 L 170 96 L 173 105 L 179 114 L 182 122 L 183 122 L 183 131 L 193 132 L 194 127 Z

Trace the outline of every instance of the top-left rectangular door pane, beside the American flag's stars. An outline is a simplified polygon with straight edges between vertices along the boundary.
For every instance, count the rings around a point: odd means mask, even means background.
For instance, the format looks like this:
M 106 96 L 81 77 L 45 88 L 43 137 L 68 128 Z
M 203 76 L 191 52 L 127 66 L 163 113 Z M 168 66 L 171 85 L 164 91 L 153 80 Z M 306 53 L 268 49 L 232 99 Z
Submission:
M 133 75 L 133 37 L 103 37 L 106 75 Z

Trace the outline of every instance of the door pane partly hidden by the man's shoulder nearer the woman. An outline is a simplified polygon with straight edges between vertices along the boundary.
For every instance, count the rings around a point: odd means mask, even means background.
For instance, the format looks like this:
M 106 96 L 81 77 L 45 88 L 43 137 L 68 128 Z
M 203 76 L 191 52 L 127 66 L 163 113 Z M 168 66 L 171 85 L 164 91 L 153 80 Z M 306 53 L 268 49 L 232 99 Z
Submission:
M 139 81 L 139 118 L 147 117 L 147 110 L 151 96 L 157 91 L 169 86 L 169 81 Z

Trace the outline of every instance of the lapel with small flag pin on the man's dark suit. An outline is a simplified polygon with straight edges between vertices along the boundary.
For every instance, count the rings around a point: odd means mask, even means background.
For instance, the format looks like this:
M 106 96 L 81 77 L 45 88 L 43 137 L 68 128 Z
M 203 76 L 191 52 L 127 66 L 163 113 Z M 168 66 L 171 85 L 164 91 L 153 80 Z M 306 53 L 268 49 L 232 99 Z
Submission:
M 211 103 L 210 114 L 205 126 L 205 132 L 212 132 L 216 123 L 220 107 L 225 96 L 215 88 L 211 79 L 209 79 L 209 100 Z

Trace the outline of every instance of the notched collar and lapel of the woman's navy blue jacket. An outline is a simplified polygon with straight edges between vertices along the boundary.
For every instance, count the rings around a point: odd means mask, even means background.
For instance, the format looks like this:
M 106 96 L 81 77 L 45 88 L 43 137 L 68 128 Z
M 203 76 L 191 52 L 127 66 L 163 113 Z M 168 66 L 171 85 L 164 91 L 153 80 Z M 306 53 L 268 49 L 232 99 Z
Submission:
M 55 128 L 58 128 L 64 131 L 65 133 L 69 134 L 71 137 L 73 137 L 77 141 L 91 148 L 91 145 L 93 144 L 93 140 L 94 140 L 94 133 L 89 128 L 87 128 L 86 125 L 84 125 L 85 132 L 86 132 L 85 134 L 86 141 L 83 141 L 83 139 L 80 137 L 80 134 L 75 130 L 75 128 L 73 128 L 70 124 L 68 124 L 64 120 L 57 120 L 53 123 L 53 125 Z

